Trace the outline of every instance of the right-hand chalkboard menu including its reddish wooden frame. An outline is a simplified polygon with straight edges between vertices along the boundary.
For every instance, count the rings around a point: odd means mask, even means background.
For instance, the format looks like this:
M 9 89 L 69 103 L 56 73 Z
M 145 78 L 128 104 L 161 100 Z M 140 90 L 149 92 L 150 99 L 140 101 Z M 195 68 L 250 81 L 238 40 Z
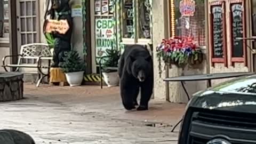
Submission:
M 231 63 L 246 63 L 246 41 L 236 38 L 245 38 L 245 9 L 243 0 L 231 0 L 230 10 L 230 31 L 231 31 Z

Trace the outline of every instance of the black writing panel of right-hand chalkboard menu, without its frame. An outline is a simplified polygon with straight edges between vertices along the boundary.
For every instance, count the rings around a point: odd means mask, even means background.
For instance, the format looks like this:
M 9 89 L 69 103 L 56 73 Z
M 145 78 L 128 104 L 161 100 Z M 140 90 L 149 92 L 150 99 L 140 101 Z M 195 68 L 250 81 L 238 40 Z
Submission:
M 243 5 L 231 4 L 231 22 L 233 34 L 232 57 L 243 57 L 243 41 L 237 41 L 237 37 L 243 37 Z

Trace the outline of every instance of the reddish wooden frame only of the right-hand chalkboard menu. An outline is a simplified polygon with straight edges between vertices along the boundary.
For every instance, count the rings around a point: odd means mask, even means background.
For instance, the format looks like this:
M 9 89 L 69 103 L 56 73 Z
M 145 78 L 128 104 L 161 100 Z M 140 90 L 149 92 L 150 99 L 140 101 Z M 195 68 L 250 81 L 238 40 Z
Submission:
M 242 3 L 242 6 L 243 6 L 243 13 L 242 13 L 242 17 L 243 17 L 243 38 L 246 37 L 246 15 L 245 15 L 245 3 L 243 0 L 231 0 L 230 3 L 229 3 L 229 20 L 230 20 L 230 23 L 233 22 L 233 18 L 231 17 L 232 16 L 232 12 L 231 12 L 231 5 L 232 4 L 241 4 Z M 232 24 L 230 24 L 232 25 Z M 234 42 L 234 37 L 233 37 L 233 27 L 230 27 L 230 31 L 231 31 L 231 49 L 230 49 L 230 62 L 231 62 L 231 66 L 234 66 L 235 62 L 243 62 L 245 66 L 247 66 L 247 48 L 246 48 L 246 41 L 242 40 L 243 41 L 243 57 L 233 57 L 233 51 L 234 51 L 234 45 L 233 45 L 233 42 Z

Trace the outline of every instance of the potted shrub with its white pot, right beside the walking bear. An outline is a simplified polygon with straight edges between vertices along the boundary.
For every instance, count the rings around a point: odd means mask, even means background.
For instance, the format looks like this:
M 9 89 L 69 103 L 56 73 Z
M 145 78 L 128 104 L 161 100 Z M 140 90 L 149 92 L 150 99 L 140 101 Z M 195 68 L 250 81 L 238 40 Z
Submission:
M 106 61 L 103 63 L 102 75 L 105 83 L 108 87 L 117 86 L 119 84 L 118 77 L 118 60 L 120 58 L 120 52 L 112 49 L 106 50 Z

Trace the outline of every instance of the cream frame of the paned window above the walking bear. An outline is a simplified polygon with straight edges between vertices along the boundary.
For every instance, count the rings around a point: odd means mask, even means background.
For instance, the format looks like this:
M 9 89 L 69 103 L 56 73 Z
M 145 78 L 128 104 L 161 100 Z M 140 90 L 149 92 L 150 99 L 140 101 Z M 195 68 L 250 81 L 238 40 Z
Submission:
M 139 1 L 140 0 L 132 0 L 133 2 L 133 13 L 134 13 L 134 17 L 133 17 L 133 33 L 134 33 L 134 38 L 125 38 L 123 36 L 123 0 L 120 1 L 119 5 L 121 7 L 120 9 L 120 14 L 121 17 L 119 18 L 120 24 L 118 25 L 118 27 L 120 27 L 121 29 L 121 39 L 122 41 L 120 42 L 121 44 L 125 44 L 125 45 L 129 45 L 129 44 L 152 44 L 152 27 L 151 27 L 151 23 L 152 23 L 152 17 L 151 17 L 151 12 L 152 10 L 150 10 L 150 38 L 139 38 L 139 12 L 138 12 L 138 5 L 139 5 Z M 148 0 L 150 5 L 152 6 L 152 3 L 150 0 Z

